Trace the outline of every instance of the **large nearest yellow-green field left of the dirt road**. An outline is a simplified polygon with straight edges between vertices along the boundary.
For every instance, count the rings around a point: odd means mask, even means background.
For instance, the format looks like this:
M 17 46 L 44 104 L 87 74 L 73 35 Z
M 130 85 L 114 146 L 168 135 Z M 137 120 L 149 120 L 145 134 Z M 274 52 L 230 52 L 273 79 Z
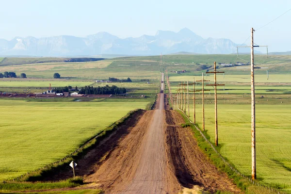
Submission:
M 98 131 L 149 101 L 0 100 L 0 180 L 57 161 Z

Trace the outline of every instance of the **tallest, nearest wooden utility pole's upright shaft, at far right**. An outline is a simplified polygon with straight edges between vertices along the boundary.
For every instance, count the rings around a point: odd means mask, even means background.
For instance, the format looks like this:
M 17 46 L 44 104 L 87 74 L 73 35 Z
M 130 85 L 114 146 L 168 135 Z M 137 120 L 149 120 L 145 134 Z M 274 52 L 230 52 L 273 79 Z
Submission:
M 251 97 L 252 97 L 252 179 L 257 179 L 256 168 L 256 110 L 254 74 L 254 29 L 251 29 Z

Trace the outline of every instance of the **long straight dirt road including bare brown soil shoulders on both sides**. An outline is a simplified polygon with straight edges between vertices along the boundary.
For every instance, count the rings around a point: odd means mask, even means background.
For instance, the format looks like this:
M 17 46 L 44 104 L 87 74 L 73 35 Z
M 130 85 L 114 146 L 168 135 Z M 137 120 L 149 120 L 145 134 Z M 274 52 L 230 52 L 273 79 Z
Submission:
M 161 82 L 155 110 L 130 117 L 77 162 L 76 174 L 106 194 L 240 193 L 202 153 L 192 129 L 181 127 L 182 116 L 164 110 L 163 76 Z M 70 176 L 68 167 L 49 180 Z

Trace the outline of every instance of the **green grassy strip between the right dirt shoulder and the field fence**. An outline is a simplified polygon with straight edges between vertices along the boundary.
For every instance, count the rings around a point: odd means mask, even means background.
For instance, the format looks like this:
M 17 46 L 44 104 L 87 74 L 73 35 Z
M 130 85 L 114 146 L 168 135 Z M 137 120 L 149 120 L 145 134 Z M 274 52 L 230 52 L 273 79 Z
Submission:
M 178 111 L 178 110 L 177 110 Z M 204 140 L 204 138 L 202 137 L 202 135 L 200 134 L 200 132 L 195 129 L 195 126 L 190 123 L 189 119 L 186 117 L 186 115 L 184 113 L 182 113 L 181 111 L 178 111 L 184 121 L 185 124 L 184 126 L 190 126 L 193 132 L 193 135 L 195 137 L 195 139 L 197 140 L 197 145 L 200 147 L 200 149 L 206 154 L 206 156 L 210 159 L 210 161 L 213 162 L 213 164 L 218 168 L 218 170 L 225 172 L 228 176 L 228 178 L 233 179 L 234 183 L 245 193 L 245 194 L 278 194 L 278 189 L 281 188 L 266 188 L 264 186 L 257 186 L 256 184 L 259 183 L 257 181 L 255 181 L 255 184 L 251 183 L 247 178 L 244 178 L 240 175 L 238 175 L 237 173 L 235 173 L 234 171 L 232 171 L 230 169 L 230 167 L 228 165 L 226 165 L 226 163 L 219 157 L 219 155 L 212 149 L 212 147 L 210 146 L 210 144 L 208 142 L 206 142 Z M 199 126 L 198 126 L 199 127 Z M 210 137 L 207 134 L 206 131 L 202 131 L 202 133 L 205 135 L 205 137 L 209 140 Z M 226 160 L 227 161 L 227 160 Z M 229 161 L 227 161 L 229 162 Z M 232 164 L 231 162 L 229 162 L 230 164 Z M 232 165 L 234 166 L 234 165 Z M 290 192 L 282 192 L 280 191 L 280 194 L 290 194 Z M 221 193 L 222 194 L 222 193 Z

